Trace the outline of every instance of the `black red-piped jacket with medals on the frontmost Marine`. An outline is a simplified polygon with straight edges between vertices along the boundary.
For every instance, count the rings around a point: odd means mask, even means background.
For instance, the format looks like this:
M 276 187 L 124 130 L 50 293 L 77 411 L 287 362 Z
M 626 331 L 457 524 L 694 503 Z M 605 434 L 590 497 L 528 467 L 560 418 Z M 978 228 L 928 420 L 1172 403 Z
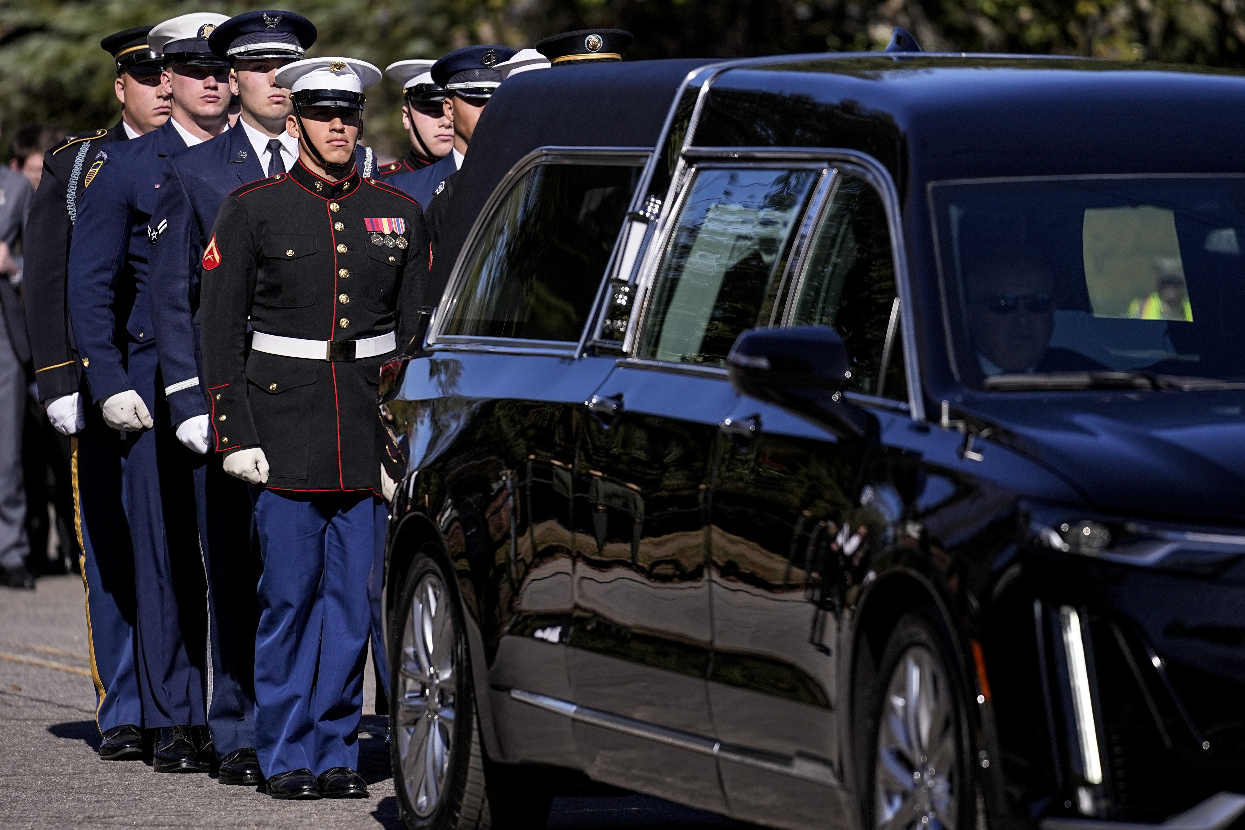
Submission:
M 263 448 L 273 489 L 378 493 L 380 367 L 415 333 L 430 256 L 420 207 L 357 169 L 329 182 L 299 162 L 230 193 L 200 280 L 217 449 Z M 284 357 L 249 350 L 248 321 L 256 332 L 319 341 L 396 329 L 398 347 L 360 360 Z

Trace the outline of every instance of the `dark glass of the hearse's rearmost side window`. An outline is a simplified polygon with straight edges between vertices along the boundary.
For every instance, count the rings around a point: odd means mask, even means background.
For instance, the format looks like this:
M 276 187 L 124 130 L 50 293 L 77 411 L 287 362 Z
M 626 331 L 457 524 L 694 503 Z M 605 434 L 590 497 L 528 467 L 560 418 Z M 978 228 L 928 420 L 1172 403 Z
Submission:
M 576 342 L 631 192 L 635 162 L 542 164 L 488 220 L 443 335 Z

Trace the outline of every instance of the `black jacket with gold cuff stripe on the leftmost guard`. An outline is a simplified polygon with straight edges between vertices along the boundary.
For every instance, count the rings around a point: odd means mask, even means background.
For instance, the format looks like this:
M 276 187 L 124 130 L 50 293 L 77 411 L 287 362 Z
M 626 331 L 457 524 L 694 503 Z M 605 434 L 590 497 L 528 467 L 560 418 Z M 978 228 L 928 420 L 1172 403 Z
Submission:
M 70 220 L 70 178 L 82 154 L 73 192 L 73 209 L 82 192 L 87 168 L 96 151 L 103 144 L 126 141 L 126 128 L 118 121 L 112 129 L 92 129 L 70 136 L 44 154 L 44 177 L 35 192 L 26 219 L 26 261 L 22 294 L 26 301 L 26 324 L 34 353 L 39 399 L 47 402 L 62 394 L 82 391 L 82 366 L 73 345 L 70 315 L 65 296 L 65 275 L 68 271 L 70 241 L 73 224 Z M 86 147 L 86 152 L 81 153 Z M 118 319 L 118 332 L 125 319 Z M 116 342 L 123 342 L 118 337 Z M 87 394 L 90 399 L 90 394 Z

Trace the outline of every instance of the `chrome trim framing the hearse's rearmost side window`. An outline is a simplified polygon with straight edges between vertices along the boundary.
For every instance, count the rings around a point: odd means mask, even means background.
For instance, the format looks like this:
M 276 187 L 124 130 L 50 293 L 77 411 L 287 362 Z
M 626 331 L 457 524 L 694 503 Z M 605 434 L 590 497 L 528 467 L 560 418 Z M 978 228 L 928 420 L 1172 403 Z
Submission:
M 498 182 L 497 187 L 493 188 L 493 193 L 488 197 L 488 202 L 484 203 L 484 207 L 476 217 L 476 221 L 472 224 L 471 231 L 463 241 L 462 251 L 458 254 L 457 261 L 454 261 L 453 270 L 449 273 L 449 279 L 446 280 L 446 290 L 442 292 L 441 301 L 437 304 L 436 319 L 432 321 L 432 326 L 430 326 L 428 330 L 428 336 L 426 338 L 428 347 L 437 350 L 453 348 L 456 351 L 509 351 L 512 348 L 517 348 L 522 353 L 532 353 L 533 348 L 535 348 L 539 353 L 576 355 L 583 347 L 584 338 L 588 336 L 588 332 L 591 331 L 596 305 L 589 309 L 588 320 L 585 321 L 584 330 L 580 332 L 578 340 L 533 341 L 518 337 L 473 337 L 468 335 L 444 335 L 442 332 L 444 331 L 447 322 L 453 317 L 458 292 L 462 290 L 463 281 L 466 280 L 467 263 L 469 263 L 474 255 L 476 246 L 479 244 L 479 239 L 483 235 L 484 229 L 497 213 L 498 205 L 510 194 L 514 184 L 522 179 L 524 174 L 540 166 L 584 164 L 589 163 L 589 161 L 595 161 L 596 163 L 615 162 L 616 167 L 646 168 L 649 158 L 652 153 L 654 151 L 647 147 L 538 147 L 520 158 L 514 167 L 512 167 L 510 170 L 502 177 L 502 180 Z M 611 254 L 610 258 L 613 263 L 614 254 Z M 609 271 L 610 264 L 606 264 L 606 273 Z M 600 300 L 600 290 L 598 290 L 596 300 Z M 512 345 L 489 346 L 489 342 L 492 341 L 507 341 Z M 539 346 L 539 343 L 549 342 L 557 342 L 560 343 L 560 346 L 557 348 Z M 479 345 L 478 348 L 476 346 L 477 343 Z M 523 343 L 535 345 L 525 346 Z

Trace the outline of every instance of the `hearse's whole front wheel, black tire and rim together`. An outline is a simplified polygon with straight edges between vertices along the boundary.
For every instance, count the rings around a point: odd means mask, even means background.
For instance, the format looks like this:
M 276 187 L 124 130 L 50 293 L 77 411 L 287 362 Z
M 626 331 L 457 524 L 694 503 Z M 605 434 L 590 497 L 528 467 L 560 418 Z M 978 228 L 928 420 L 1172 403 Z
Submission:
M 933 609 L 900 618 L 864 701 L 865 830 L 971 830 L 976 798 L 964 687 Z

